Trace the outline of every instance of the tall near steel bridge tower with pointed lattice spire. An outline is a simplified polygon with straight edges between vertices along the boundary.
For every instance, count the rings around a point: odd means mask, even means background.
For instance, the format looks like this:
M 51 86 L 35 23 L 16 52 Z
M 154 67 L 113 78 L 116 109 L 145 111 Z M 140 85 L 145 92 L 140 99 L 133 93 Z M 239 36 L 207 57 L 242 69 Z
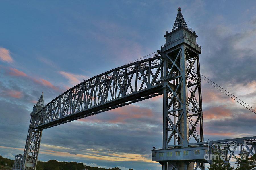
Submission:
M 152 150 L 152 160 L 163 170 L 204 169 L 205 151 L 193 143 L 203 142 L 203 115 L 197 35 L 189 29 L 178 8 L 172 31 L 158 53 L 164 60 L 163 148 Z

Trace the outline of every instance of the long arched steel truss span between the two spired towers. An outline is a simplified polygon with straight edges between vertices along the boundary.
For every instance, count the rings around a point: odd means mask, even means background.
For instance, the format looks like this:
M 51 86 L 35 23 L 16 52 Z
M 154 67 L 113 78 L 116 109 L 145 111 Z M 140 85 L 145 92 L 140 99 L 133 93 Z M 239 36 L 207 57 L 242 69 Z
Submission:
M 162 68 L 156 54 L 90 78 L 42 108 L 34 128 L 46 129 L 160 95 Z

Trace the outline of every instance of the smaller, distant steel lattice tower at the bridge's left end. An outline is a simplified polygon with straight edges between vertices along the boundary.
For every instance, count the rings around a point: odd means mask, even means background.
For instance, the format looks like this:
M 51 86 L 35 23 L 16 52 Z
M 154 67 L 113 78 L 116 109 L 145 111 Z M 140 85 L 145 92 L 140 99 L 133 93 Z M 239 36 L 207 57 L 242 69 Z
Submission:
M 28 135 L 23 155 L 16 155 L 13 170 L 36 170 L 36 163 L 38 159 L 38 152 L 40 147 L 41 129 L 34 129 L 36 114 L 44 107 L 43 92 L 38 102 L 33 107 L 33 111 L 30 113 L 30 124 L 28 129 Z

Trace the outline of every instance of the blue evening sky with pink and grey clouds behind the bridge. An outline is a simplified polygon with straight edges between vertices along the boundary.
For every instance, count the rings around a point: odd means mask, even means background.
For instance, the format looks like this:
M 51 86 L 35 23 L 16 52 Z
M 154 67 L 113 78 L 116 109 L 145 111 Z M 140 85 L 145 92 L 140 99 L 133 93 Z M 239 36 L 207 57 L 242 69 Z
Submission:
M 256 107 L 256 1 L 1 1 L 0 154 L 23 154 L 30 112 L 160 49 L 181 7 L 201 74 Z M 202 80 L 204 139 L 255 136 L 256 115 Z M 162 96 L 45 129 L 39 160 L 158 170 Z M 232 162 L 234 165 L 234 162 Z

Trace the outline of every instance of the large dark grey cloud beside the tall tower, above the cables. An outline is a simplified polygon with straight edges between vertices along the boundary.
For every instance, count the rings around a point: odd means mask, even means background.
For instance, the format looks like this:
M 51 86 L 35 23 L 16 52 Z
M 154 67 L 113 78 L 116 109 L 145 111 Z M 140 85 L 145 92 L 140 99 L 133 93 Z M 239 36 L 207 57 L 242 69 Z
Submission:
M 202 74 L 226 87 L 255 81 L 255 26 L 249 24 L 242 33 L 237 33 L 230 25 L 204 24 L 199 31 L 210 40 L 202 46 L 205 49 L 200 61 Z

